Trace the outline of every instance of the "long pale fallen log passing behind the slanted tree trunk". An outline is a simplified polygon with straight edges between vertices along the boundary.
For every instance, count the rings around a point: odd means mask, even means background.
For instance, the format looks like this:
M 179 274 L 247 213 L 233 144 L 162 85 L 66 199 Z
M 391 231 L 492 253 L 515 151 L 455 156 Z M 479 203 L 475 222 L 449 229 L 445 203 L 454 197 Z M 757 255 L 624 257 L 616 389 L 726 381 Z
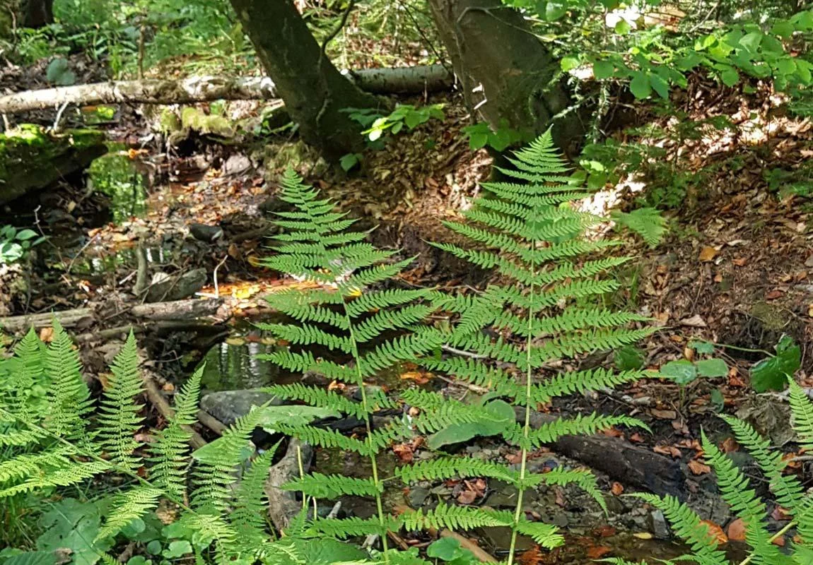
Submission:
M 346 71 L 363 90 L 372 93 L 423 93 L 446 90 L 454 77 L 442 65 Z M 192 104 L 215 100 L 270 100 L 277 98 L 274 82 L 266 76 L 191 76 L 183 80 L 115 80 L 58 88 L 25 90 L 0 97 L 0 114 L 59 108 L 66 104 Z

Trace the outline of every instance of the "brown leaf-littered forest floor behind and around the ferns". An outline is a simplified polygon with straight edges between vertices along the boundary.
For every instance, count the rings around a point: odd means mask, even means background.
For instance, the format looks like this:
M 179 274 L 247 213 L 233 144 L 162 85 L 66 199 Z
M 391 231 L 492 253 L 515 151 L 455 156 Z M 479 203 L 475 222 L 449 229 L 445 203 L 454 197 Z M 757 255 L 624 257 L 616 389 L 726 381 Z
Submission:
M 608 184 L 593 200 L 593 207 L 602 213 L 607 205 L 620 202 L 624 207 L 650 190 L 673 190 L 671 196 L 678 201 L 667 209 L 669 231 L 655 248 L 624 235 L 625 252 L 635 260 L 619 270 L 621 288 L 608 300 L 646 313 L 661 326 L 644 346 L 647 367 L 659 369 L 672 360 L 693 360 L 701 354 L 689 345 L 700 341 L 715 344 L 728 373 L 697 379 L 685 390 L 659 379 L 637 382 L 613 394 L 568 399 L 546 409 L 633 412 L 652 427 L 651 435 L 621 430 L 608 435 L 679 462 L 689 478 L 687 490 L 697 493 L 713 490 L 710 469 L 698 460 L 700 428 L 716 434 L 720 442 L 727 441 L 724 426 L 715 418 L 721 408 L 750 417 L 778 445 L 792 439 L 780 395 L 758 397 L 749 386 L 750 368 L 773 351 L 782 335 L 791 336 L 802 348 L 798 380 L 802 386 L 813 386 L 809 376 L 813 369 L 813 206 L 805 196 L 777 192 L 774 179 L 779 177 L 772 172 L 803 175 L 813 154 L 813 132 L 810 122 L 783 114 L 771 93 L 759 88 L 746 95 L 696 80 L 682 96 L 685 99 L 675 102 L 690 119 L 727 116 L 733 127 L 706 128 L 700 136 L 685 138 L 676 135 L 675 119 L 653 112 L 638 115 L 630 124 L 637 126 L 636 135 L 611 134 L 628 144 L 658 145 L 665 152 L 663 161 L 674 162 L 688 180 L 681 188 L 670 189 L 672 185 L 663 183 L 664 170 L 648 166 L 615 186 Z M 171 391 L 173 376 L 188 373 L 213 344 L 215 348 L 244 347 L 246 342 L 262 342 L 258 332 L 245 329 L 243 320 L 263 316 L 263 293 L 292 283 L 259 265 L 266 253 L 263 238 L 272 234 L 276 179 L 287 166 L 294 166 L 342 209 L 350 210 L 359 218 L 359 226 L 379 226 L 372 236 L 376 243 L 418 256 L 403 283 L 458 288 L 485 283 L 489 274 L 450 261 L 426 242 L 450 238 L 442 222 L 459 219 L 459 210 L 476 195 L 477 183 L 487 179 L 491 157 L 485 150 L 468 148 L 460 133 L 468 123 L 467 114 L 458 97 L 438 95 L 412 102 L 446 103 L 446 120 L 395 136 L 385 150 L 368 151 L 363 169 L 351 175 L 329 170 L 306 146 L 280 137 L 249 136 L 233 143 L 189 132 L 179 146 L 167 149 L 143 116 L 129 109 L 120 111 L 103 125 L 111 138 L 111 152 L 89 175 L 93 185 L 107 194 L 91 194 L 86 182 L 65 183 L 41 201 L 42 211 L 33 219 L 51 238 L 37 248 L 27 288 L 12 283 L 12 275 L 19 276 L 19 271 L 0 272 L 0 287 L 5 285 L 0 292 L 0 315 L 91 307 L 98 313 L 93 327 L 101 330 L 128 320 L 124 305 L 133 300 L 138 249 L 145 252 L 152 274 L 176 277 L 203 269 L 207 283 L 198 294 L 225 300 L 220 320 L 228 319 L 231 329 L 228 336 L 217 334 L 193 347 L 180 337 L 154 339 L 150 346 L 154 363 L 163 368 L 168 380 L 165 390 Z M 261 110 L 259 103 L 229 106 L 229 112 L 241 117 L 259 115 Z M 34 121 L 46 119 L 50 117 L 33 116 Z M 650 135 L 654 127 L 667 135 Z M 215 232 L 203 230 L 200 235 L 199 226 L 219 228 L 222 235 L 207 239 Z M 609 221 L 606 229 L 611 229 Z M 149 338 L 149 331 L 146 335 Z M 92 340 L 83 345 L 91 359 L 89 369 L 102 371 L 102 359 L 89 353 L 92 347 Z M 579 366 L 600 364 L 611 361 L 610 355 L 604 352 L 577 362 Z M 256 384 L 254 377 L 244 381 Z M 415 379 L 414 374 L 400 377 Z M 256 378 L 262 380 L 262 376 Z M 426 384 L 435 377 L 421 373 L 417 378 Z M 439 380 L 434 383 L 447 386 Z M 450 394 L 466 393 L 461 386 L 448 386 Z M 505 446 L 487 441 L 475 448 L 490 454 L 482 456 L 512 456 Z M 736 451 L 736 443 L 729 441 L 728 449 Z M 404 459 L 420 451 L 417 445 L 402 446 L 395 455 Z M 543 451 L 535 460 L 544 467 L 567 458 Z M 343 464 L 353 466 L 350 461 Z M 602 477 L 614 495 L 624 492 L 620 481 Z M 500 504 L 495 496 L 499 490 L 493 485 L 441 487 L 424 498 L 452 497 L 464 502 L 474 496 L 479 503 Z M 566 497 L 552 489 L 542 496 L 550 500 L 540 500 L 540 507 L 558 508 L 564 515 L 550 520 L 580 521 L 582 533 L 591 540 L 575 545 L 581 554 L 573 562 L 584 558 L 585 552 L 591 558 L 608 554 L 595 549 L 590 554 L 590 548 L 622 543 L 602 541 L 615 536 L 615 529 L 599 528 L 600 513 L 579 495 L 568 490 Z M 407 493 L 398 502 L 420 506 L 424 501 L 418 498 L 414 492 Z M 626 515 L 616 521 L 619 528 L 657 529 L 634 504 L 619 504 L 616 514 Z M 724 525 L 724 518 L 714 510 L 709 518 Z M 776 515 L 776 520 L 782 518 Z M 576 551 L 575 546 L 563 551 Z M 528 551 L 534 550 L 528 547 Z M 528 563 L 567 563 L 562 556 L 555 562 L 546 559 L 531 555 Z

